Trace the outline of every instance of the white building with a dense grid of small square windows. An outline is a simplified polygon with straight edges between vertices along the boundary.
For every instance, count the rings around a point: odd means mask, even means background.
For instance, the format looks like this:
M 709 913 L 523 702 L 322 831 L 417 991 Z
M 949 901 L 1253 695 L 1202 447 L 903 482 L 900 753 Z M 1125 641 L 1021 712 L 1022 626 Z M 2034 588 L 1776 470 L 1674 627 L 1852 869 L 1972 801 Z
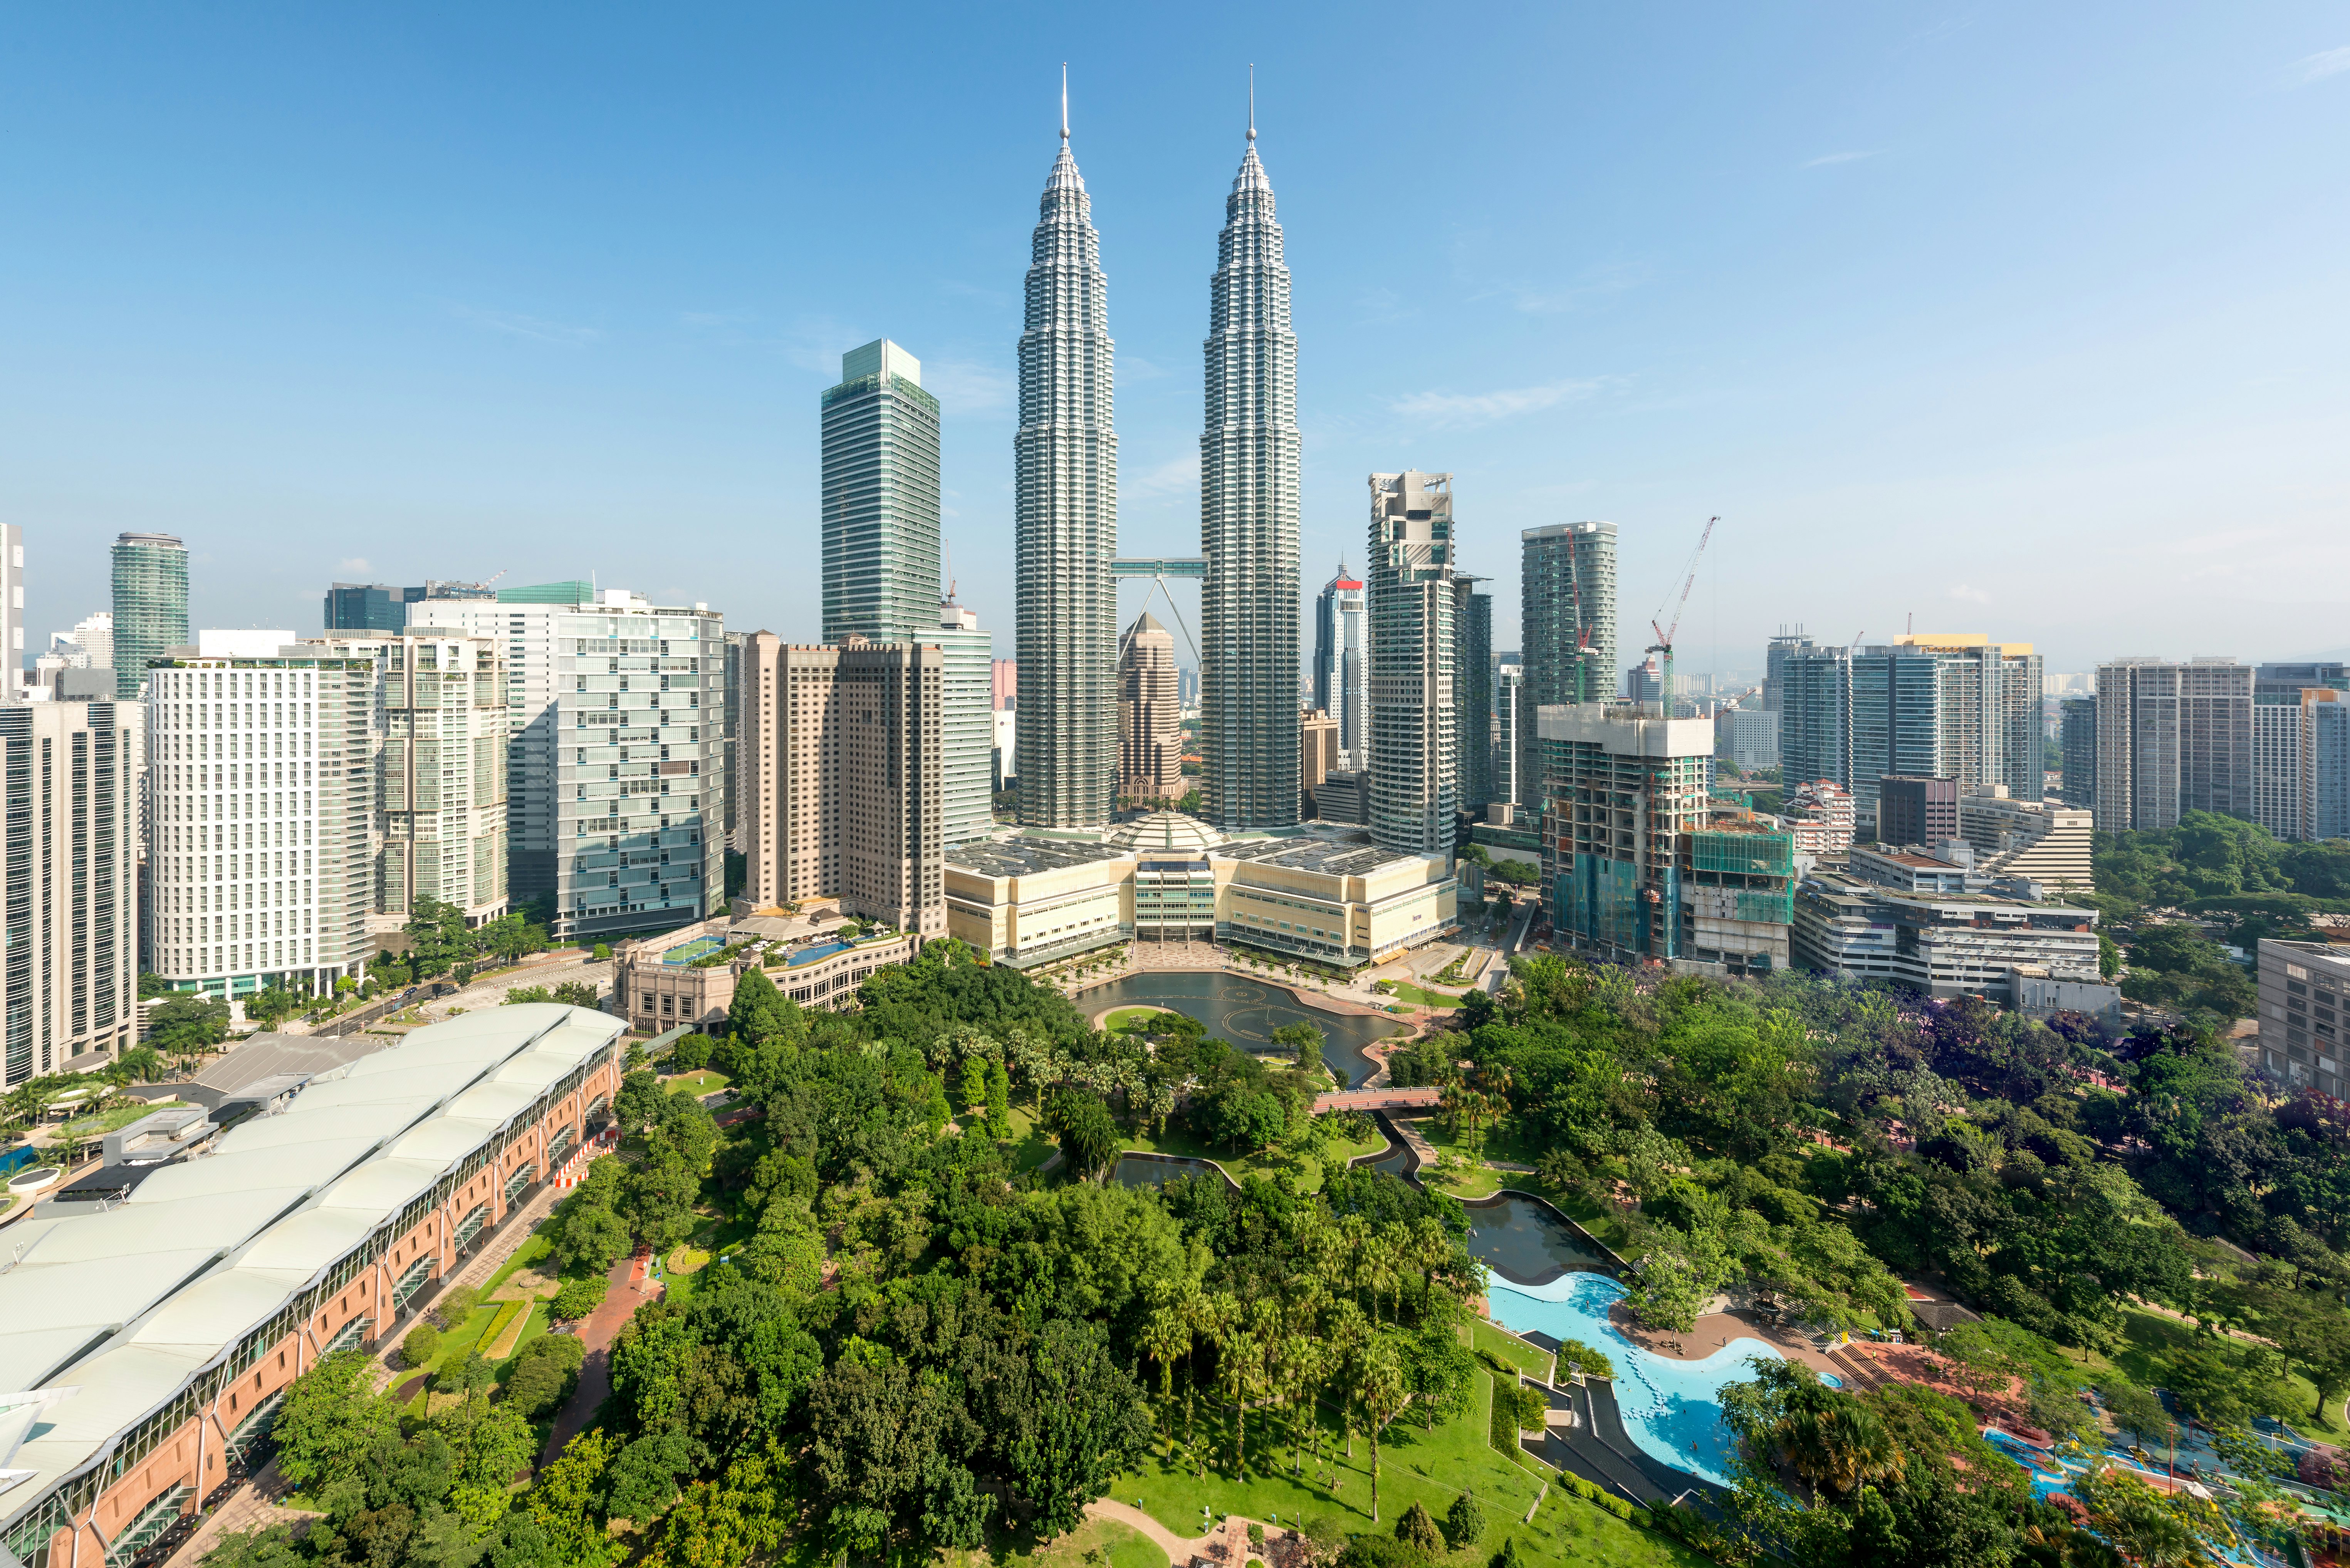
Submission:
M 150 966 L 176 990 L 327 990 L 367 961 L 371 658 L 200 632 L 148 682 Z

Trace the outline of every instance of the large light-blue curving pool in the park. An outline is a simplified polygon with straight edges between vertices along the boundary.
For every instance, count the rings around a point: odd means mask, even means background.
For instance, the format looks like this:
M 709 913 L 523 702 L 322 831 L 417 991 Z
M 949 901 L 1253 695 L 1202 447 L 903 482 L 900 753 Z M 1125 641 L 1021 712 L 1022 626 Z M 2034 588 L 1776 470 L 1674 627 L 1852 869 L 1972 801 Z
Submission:
M 1607 1352 L 1617 1368 L 1617 1408 L 1631 1441 L 1652 1460 L 1730 1486 L 1732 1450 L 1720 1389 L 1725 1382 L 1751 1380 L 1746 1361 L 1753 1356 L 1779 1361 L 1777 1349 L 1762 1340 L 1730 1340 L 1704 1361 L 1671 1361 L 1645 1352 L 1607 1321 L 1607 1309 L 1624 1300 L 1624 1286 L 1605 1274 L 1560 1274 L 1539 1286 L 1495 1279 L 1485 1300 L 1492 1321 L 1511 1333 L 1546 1333 Z

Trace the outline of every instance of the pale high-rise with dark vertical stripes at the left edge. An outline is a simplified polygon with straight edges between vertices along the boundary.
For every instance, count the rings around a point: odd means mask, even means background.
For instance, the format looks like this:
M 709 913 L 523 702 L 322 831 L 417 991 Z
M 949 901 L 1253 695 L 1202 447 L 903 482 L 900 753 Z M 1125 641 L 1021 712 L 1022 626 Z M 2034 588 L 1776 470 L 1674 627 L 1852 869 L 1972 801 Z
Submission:
M 139 719 L 110 701 L 0 705 L 0 1091 L 139 1044 Z

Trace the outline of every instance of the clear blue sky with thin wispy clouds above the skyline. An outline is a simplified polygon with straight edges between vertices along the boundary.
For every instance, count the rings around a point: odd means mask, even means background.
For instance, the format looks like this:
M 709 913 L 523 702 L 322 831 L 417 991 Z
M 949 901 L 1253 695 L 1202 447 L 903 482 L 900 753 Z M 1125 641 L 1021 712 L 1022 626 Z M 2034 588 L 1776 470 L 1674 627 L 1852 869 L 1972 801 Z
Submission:
M 1908 614 L 2052 670 L 2350 644 L 2338 5 L 49 5 L 0 24 L 28 651 L 120 529 L 207 625 L 503 569 L 813 637 L 815 395 L 886 334 L 1010 654 L 1062 59 L 1130 552 L 1198 548 L 1255 61 L 1309 588 L 1415 465 L 1502 646 L 1518 529 L 1614 520 L 1638 649 L 1713 512 L 1685 670 Z

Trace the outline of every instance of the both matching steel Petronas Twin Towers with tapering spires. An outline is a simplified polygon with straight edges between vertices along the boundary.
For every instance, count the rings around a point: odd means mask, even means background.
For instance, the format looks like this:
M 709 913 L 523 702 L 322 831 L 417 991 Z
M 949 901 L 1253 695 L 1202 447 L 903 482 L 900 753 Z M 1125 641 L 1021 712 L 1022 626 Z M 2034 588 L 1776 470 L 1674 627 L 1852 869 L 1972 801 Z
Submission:
M 1046 179 L 1020 331 L 1015 574 L 1020 823 L 1116 804 L 1119 435 L 1100 235 L 1069 155 Z M 1208 294 L 1198 437 L 1201 795 L 1224 830 L 1297 823 L 1297 334 L 1274 186 L 1248 153 Z M 1156 550 L 1154 550 L 1156 555 Z

